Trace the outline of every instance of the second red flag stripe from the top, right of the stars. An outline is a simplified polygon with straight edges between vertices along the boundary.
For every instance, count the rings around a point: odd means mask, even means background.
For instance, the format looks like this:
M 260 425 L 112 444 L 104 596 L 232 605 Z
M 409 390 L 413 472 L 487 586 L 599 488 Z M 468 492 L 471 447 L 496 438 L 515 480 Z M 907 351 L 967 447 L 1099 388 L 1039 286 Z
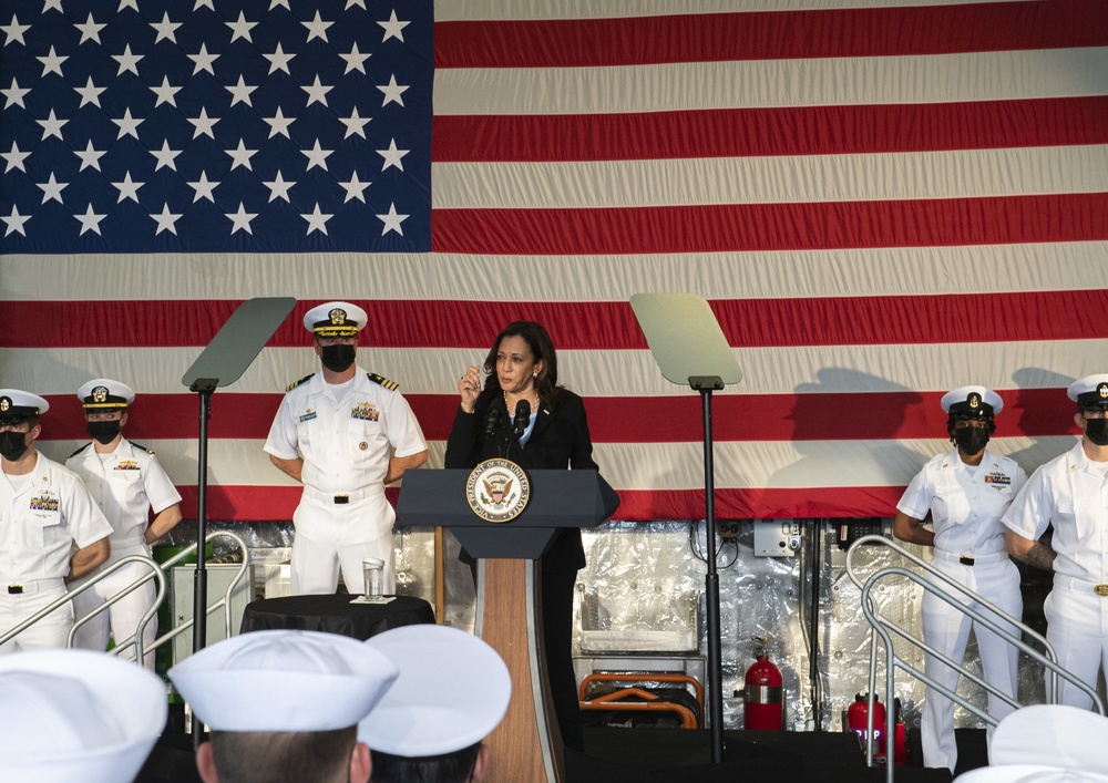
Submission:
M 1108 7 L 1108 3 L 1106 3 Z M 1108 97 L 437 116 L 437 163 L 834 155 L 1108 143 Z

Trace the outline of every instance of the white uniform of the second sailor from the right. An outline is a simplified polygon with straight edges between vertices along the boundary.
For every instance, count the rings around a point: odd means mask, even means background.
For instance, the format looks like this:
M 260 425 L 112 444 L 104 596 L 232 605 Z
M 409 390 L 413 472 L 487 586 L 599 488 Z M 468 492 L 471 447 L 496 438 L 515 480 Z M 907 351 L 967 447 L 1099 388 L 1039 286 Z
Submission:
M 936 569 L 1017 618 L 1023 614 L 1019 571 L 1005 552 L 1001 516 L 1026 481 L 1023 468 L 1008 457 L 997 456 L 986 449 L 981 464 L 972 466 L 962 462 L 958 450 L 953 449 L 930 460 L 896 504 L 899 511 L 916 519 L 925 518 L 931 512 L 935 529 L 932 565 Z M 933 581 L 942 587 L 938 580 Z M 953 591 L 951 595 L 961 604 L 987 614 L 979 602 L 971 602 Z M 1008 696 L 1015 696 L 1016 648 L 987 628 L 973 624 L 942 598 L 924 594 L 923 638 L 930 647 L 961 661 L 971 626 L 977 638 L 985 679 Z M 1014 632 L 1015 628 L 1010 628 Z M 956 690 L 960 677 L 956 669 L 926 656 L 924 670 L 929 677 Z M 1012 708 L 989 694 L 988 711 L 999 719 Z M 957 762 L 954 702 L 929 692 L 920 731 L 924 763 L 953 771 Z

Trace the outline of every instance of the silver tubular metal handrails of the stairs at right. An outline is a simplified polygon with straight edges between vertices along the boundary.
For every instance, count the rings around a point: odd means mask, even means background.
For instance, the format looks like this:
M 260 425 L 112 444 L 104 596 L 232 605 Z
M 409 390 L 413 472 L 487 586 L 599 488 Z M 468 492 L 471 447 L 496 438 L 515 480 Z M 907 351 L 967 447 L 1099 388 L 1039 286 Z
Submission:
M 993 615 L 1002 618 L 1003 620 L 1007 621 L 1012 626 L 1015 626 L 1015 627 L 1022 629 L 1022 631 L 1024 633 L 1026 633 L 1027 636 L 1036 639 L 1045 648 L 1046 655 L 1043 655 L 1038 650 L 1036 650 L 1035 648 L 1028 646 L 1026 642 L 1023 641 L 1023 639 L 1015 637 L 1014 635 L 1012 635 L 1010 632 L 1008 632 L 1008 630 L 1006 628 L 1002 627 L 1001 625 L 998 625 L 994 620 L 989 619 L 985 615 L 978 612 L 976 609 L 973 609 L 972 607 L 968 607 L 968 606 L 966 606 L 964 604 L 961 604 L 953 596 L 947 595 L 944 590 L 940 589 L 937 586 L 935 586 L 934 584 L 927 581 L 926 579 L 923 579 L 922 577 L 920 577 L 914 571 L 910 571 L 910 570 L 906 570 L 904 568 L 895 568 L 895 567 L 882 568 L 882 569 L 875 571 L 874 574 L 872 574 L 865 580 L 865 583 L 863 584 L 859 579 L 858 575 L 854 573 L 854 568 L 853 568 L 853 565 L 851 563 L 851 556 L 854 554 L 854 550 L 858 549 L 863 544 L 880 544 L 880 545 L 886 546 L 890 549 L 892 549 L 892 550 L 896 552 L 897 554 L 902 555 L 906 559 L 912 560 L 913 563 L 915 563 L 916 565 L 919 565 L 921 568 L 923 568 L 925 571 L 927 571 L 929 574 L 931 574 L 933 576 L 938 577 L 938 579 L 941 581 L 946 583 L 946 585 L 948 585 L 950 587 L 954 588 L 958 593 L 962 593 L 963 595 L 965 595 L 966 597 L 971 598 L 972 600 L 974 600 L 974 601 L 976 601 L 978 604 L 984 605 L 984 607 L 991 614 L 993 614 Z M 869 694 L 868 694 L 868 707 L 869 707 L 869 709 L 866 711 L 868 714 L 866 714 L 866 753 L 865 753 L 865 756 L 866 756 L 866 764 L 869 766 L 873 766 L 873 703 L 874 703 L 874 699 L 875 699 L 875 697 L 874 697 L 874 690 L 875 690 L 875 686 L 876 686 L 878 635 L 881 636 L 881 639 L 882 639 L 882 641 L 885 645 L 885 692 L 889 694 L 888 696 L 889 699 L 893 698 L 893 692 L 894 692 L 894 676 L 893 676 L 894 674 L 894 670 L 897 669 L 897 668 L 900 668 L 900 669 L 904 670 L 905 672 L 907 672 L 909 674 L 911 674 L 911 676 L 915 677 L 916 679 L 921 680 L 929 688 L 934 689 L 938 693 L 941 693 L 941 694 L 945 696 L 946 698 L 951 699 L 951 701 L 953 701 L 953 702 L 955 702 L 955 703 L 964 707 L 965 709 L 970 710 L 975 715 L 977 715 L 978 718 L 985 720 L 991 725 L 996 725 L 998 723 L 998 721 L 995 718 L 993 718 L 993 715 L 991 715 L 987 711 L 981 710 L 981 709 L 976 708 L 975 705 L 971 704 L 968 701 L 966 701 L 965 699 L 963 699 L 962 697 L 960 697 L 956 692 L 954 692 L 951 689 L 946 688 L 945 686 L 936 682 L 932 678 L 927 677 L 927 674 L 925 672 L 920 671 L 914 666 L 912 666 L 907 661 L 905 661 L 902 658 L 900 658 L 899 656 L 896 656 L 895 655 L 895 650 L 893 648 L 893 639 L 889 635 L 889 630 L 888 629 L 894 630 L 901 638 L 905 639 L 906 641 L 910 641 L 910 642 L 914 643 L 916 647 L 919 647 L 920 649 L 922 649 L 925 653 L 934 656 L 935 658 L 937 658 L 940 661 L 942 661 L 946 666 L 960 669 L 961 672 L 965 677 L 967 677 L 970 680 L 972 680 L 976 684 L 978 684 L 982 688 L 984 688 L 988 693 L 999 697 L 1002 700 L 1004 700 L 1005 702 L 1007 702 L 1012 707 L 1015 707 L 1015 708 L 1019 708 L 1020 707 L 1020 703 L 1018 701 L 1016 701 L 1015 699 L 1013 699 L 1008 694 L 1003 693 L 995 686 L 993 686 L 992 683 L 985 681 L 983 678 L 977 677 L 974 672 L 965 669 L 963 667 L 963 664 L 962 664 L 962 661 L 954 661 L 953 659 L 948 658 L 947 656 L 938 652 L 938 650 L 935 650 L 934 648 L 930 647 L 926 642 L 924 642 L 919 637 L 915 637 L 915 636 L 909 633 L 907 631 L 905 631 L 903 628 L 899 627 L 894 622 L 891 622 L 891 621 L 885 620 L 884 618 L 882 618 L 876 612 L 876 610 L 874 609 L 874 599 L 871 597 L 870 594 L 871 594 L 871 591 L 873 589 L 873 586 L 880 579 L 884 579 L 884 578 L 890 577 L 890 576 L 904 577 L 904 578 L 906 578 L 906 579 L 909 579 L 911 581 L 914 581 L 915 584 L 920 585 L 925 591 L 929 591 L 932 595 L 934 595 L 934 596 L 941 598 L 942 600 L 946 601 L 952 607 L 958 609 L 963 614 L 965 614 L 968 617 L 971 617 L 974 621 L 981 622 L 986 628 L 988 628 L 994 633 L 996 633 L 999 638 L 1005 639 L 1008 643 L 1014 645 L 1015 647 L 1017 647 L 1018 649 L 1023 650 L 1028 656 L 1030 656 L 1032 658 L 1034 658 L 1035 660 L 1037 660 L 1039 663 L 1042 663 L 1050 672 L 1051 684 L 1053 684 L 1051 694 L 1050 694 L 1051 699 L 1057 698 L 1057 692 L 1058 692 L 1057 682 L 1058 682 L 1058 678 L 1061 677 L 1063 679 L 1067 680 L 1068 682 L 1071 682 L 1077 688 L 1079 688 L 1080 690 L 1083 690 L 1087 694 L 1089 694 L 1092 698 L 1092 702 L 1096 705 L 1097 710 L 1100 712 L 1100 714 L 1101 715 L 1105 714 L 1104 703 L 1101 702 L 1100 697 L 1097 694 L 1097 692 L 1094 689 L 1091 689 L 1088 684 L 1086 684 L 1085 682 L 1083 682 L 1081 680 L 1079 680 L 1078 678 L 1076 678 L 1074 674 L 1071 674 L 1068 670 L 1066 670 L 1066 669 L 1061 668 L 1060 666 L 1058 666 L 1057 653 L 1054 650 L 1054 646 L 1050 645 L 1050 642 L 1047 641 L 1046 638 L 1043 635 L 1040 635 L 1035 629 L 1028 627 L 1023 621 L 1020 621 L 1020 620 L 1012 617 L 1010 615 L 1008 615 L 1006 611 L 1004 611 L 999 607 L 997 607 L 997 606 L 993 605 L 992 602 L 985 600 L 984 598 L 982 598 L 979 595 L 977 595 L 973 590 L 970 590 L 968 588 L 964 587 L 963 585 L 960 585 L 958 583 L 954 581 L 946 574 L 943 574 L 941 570 L 938 570 L 934 566 L 932 566 L 930 563 L 926 563 L 926 562 L 922 560 L 921 558 L 919 558 L 915 555 L 913 555 L 912 553 L 907 552 L 906 549 L 904 549 L 900 545 L 893 543 L 889 538 L 885 538 L 884 536 L 879 536 L 879 535 L 869 535 L 869 536 L 863 536 L 862 538 L 859 538 L 856 542 L 854 542 L 854 544 L 850 547 L 850 550 L 847 553 L 847 574 L 850 577 L 851 581 L 853 581 L 862 590 L 862 614 L 865 615 L 866 621 L 869 621 L 871 628 L 874 631 L 874 636 L 870 637 L 870 677 L 869 677 Z M 894 736 L 895 736 L 895 712 L 894 712 L 894 710 L 889 709 L 889 710 L 885 710 L 885 743 L 886 743 L 886 745 L 891 741 L 891 739 L 894 738 Z M 890 763 L 889 753 L 886 752 L 886 754 L 885 754 L 885 777 L 889 781 L 889 783 L 892 783 L 892 781 L 893 781 L 893 769 L 894 769 L 894 764 Z

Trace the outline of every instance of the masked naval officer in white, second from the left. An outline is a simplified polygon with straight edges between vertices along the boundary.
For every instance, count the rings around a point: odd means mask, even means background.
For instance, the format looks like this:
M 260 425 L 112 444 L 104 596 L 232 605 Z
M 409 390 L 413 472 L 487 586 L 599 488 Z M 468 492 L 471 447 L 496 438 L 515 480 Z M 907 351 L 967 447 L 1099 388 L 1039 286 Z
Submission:
M 112 523 L 112 554 L 104 567 L 130 557 L 150 557 L 150 545 L 181 522 L 181 495 L 157 457 L 146 446 L 123 436 L 130 419 L 134 391 L 120 381 L 98 378 L 76 392 L 84 410 L 86 429 L 93 440 L 70 454 L 65 467 L 76 473 L 95 498 L 104 516 Z M 154 512 L 151 521 L 150 513 Z M 89 589 L 73 596 L 76 618 L 84 617 L 136 579 L 150 574 L 141 563 L 123 566 Z M 79 587 L 74 584 L 71 589 Z M 132 590 L 110 608 L 95 615 L 78 629 L 74 646 L 103 651 L 111 631 L 116 645 L 132 639 L 143 615 L 156 597 L 154 580 Z M 157 636 L 157 617 L 146 624 L 143 647 L 148 649 Z M 134 658 L 134 651 L 127 653 Z M 154 668 L 154 653 L 143 656 L 146 668 Z

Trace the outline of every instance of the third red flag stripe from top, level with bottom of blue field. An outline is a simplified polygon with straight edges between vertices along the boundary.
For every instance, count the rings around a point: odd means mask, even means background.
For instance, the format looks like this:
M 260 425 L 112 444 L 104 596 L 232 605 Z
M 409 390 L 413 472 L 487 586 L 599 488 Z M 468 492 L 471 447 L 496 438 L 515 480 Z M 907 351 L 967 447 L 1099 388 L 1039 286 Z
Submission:
M 1108 194 L 597 209 L 435 209 L 438 253 L 605 255 L 1108 239 Z

